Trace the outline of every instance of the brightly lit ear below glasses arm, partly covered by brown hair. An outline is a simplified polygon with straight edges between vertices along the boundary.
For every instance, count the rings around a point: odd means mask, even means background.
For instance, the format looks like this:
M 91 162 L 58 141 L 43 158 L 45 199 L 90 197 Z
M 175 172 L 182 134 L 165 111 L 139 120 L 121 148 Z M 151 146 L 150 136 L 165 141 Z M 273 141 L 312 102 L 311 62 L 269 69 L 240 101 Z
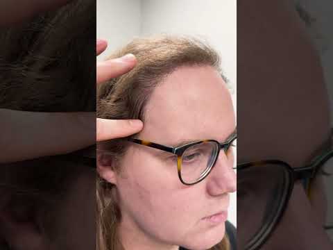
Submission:
M 98 151 L 97 153 L 97 172 L 99 176 L 108 183 L 117 185 L 117 175 L 114 171 L 115 160 L 114 156 L 111 156 L 107 152 Z

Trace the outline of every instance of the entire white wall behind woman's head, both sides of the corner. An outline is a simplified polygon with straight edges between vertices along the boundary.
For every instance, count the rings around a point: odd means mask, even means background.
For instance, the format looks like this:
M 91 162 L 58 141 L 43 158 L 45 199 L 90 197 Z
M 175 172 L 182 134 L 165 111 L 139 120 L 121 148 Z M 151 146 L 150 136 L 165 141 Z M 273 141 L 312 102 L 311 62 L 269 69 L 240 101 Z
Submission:
M 236 109 L 236 3 L 236 0 L 97 0 L 97 38 L 108 40 L 109 50 L 105 54 L 139 35 L 168 33 L 207 40 L 221 54 Z M 236 194 L 232 194 L 228 219 L 234 225 L 236 205 Z

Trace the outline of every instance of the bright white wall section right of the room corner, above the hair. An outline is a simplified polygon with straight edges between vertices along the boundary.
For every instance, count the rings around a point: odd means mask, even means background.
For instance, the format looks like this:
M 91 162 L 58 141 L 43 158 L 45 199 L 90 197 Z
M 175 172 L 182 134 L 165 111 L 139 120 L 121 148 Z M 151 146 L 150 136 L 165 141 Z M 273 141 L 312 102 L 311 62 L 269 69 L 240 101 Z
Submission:
M 142 0 L 142 35 L 198 35 L 221 53 L 222 67 L 236 88 L 235 0 Z

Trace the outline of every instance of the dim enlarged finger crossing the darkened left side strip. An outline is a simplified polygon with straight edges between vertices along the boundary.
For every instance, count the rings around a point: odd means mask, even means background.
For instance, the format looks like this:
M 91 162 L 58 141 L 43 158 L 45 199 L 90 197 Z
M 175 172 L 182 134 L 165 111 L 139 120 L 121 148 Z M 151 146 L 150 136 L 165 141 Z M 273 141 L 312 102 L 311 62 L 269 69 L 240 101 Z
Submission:
M 0 109 L 0 163 L 70 153 L 96 143 L 96 113 Z

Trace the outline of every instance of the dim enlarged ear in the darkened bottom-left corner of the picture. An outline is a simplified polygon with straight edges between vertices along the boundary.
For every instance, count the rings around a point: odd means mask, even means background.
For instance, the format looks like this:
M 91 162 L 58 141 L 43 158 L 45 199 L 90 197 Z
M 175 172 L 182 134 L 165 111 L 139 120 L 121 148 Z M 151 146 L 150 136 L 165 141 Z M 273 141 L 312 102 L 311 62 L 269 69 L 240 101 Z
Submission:
M 37 215 L 37 205 L 8 194 L 6 203 L 0 204 L 0 237 L 10 249 L 47 249 L 47 238 Z

